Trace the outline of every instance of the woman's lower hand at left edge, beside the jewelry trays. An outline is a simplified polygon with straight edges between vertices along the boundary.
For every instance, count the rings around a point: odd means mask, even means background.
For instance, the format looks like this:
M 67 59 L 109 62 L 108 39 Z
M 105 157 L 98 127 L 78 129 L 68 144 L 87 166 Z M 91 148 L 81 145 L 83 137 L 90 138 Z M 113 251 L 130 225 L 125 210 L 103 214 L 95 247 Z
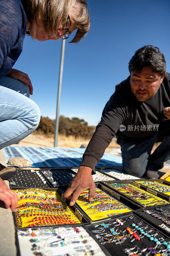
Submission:
M 18 196 L 8 188 L 4 180 L 0 178 L 0 200 L 4 202 L 5 207 L 11 208 L 11 211 L 14 212 L 18 204 Z

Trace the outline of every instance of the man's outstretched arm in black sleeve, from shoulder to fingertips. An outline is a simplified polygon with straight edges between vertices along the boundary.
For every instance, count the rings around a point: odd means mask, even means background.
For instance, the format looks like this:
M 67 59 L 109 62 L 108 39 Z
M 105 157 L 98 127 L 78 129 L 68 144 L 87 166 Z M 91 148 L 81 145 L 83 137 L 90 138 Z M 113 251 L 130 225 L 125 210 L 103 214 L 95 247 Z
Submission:
M 92 197 L 95 195 L 95 183 L 91 173 L 96 173 L 95 165 L 103 156 L 105 149 L 119 130 L 120 124 L 124 122 L 128 115 L 127 104 L 124 103 L 123 97 L 120 95 L 121 90 L 118 91 L 107 102 L 102 113 L 101 122 L 96 126 L 96 132 L 83 154 L 79 170 L 64 193 L 64 197 L 71 200 L 70 206 L 85 190 L 89 189 L 89 201 L 92 201 Z

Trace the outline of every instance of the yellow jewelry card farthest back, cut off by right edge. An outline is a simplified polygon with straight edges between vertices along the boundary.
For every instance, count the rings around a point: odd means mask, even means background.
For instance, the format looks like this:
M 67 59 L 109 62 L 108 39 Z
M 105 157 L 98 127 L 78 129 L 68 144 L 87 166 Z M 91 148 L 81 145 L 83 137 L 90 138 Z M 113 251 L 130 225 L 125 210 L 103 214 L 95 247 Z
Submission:
M 143 186 L 146 186 L 147 188 L 152 188 L 158 192 L 161 192 L 165 195 L 170 196 L 170 186 L 164 185 L 162 183 L 159 183 L 157 181 L 135 181 Z

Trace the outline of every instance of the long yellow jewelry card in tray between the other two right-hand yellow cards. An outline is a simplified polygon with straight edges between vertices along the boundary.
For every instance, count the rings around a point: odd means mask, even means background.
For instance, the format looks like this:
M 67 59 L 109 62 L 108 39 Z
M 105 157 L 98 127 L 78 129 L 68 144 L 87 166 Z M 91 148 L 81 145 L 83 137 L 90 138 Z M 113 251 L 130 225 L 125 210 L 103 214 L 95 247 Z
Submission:
M 135 181 L 136 182 L 136 181 Z M 161 199 L 158 196 L 154 196 L 151 193 L 146 192 L 141 188 L 137 188 L 131 184 L 120 184 L 120 183 L 112 183 L 109 184 L 105 182 L 105 184 L 109 185 L 111 188 L 114 188 L 126 196 L 129 196 L 136 202 L 143 204 L 144 206 L 152 206 L 159 204 L 168 204 L 168 202 L 164 199 Z

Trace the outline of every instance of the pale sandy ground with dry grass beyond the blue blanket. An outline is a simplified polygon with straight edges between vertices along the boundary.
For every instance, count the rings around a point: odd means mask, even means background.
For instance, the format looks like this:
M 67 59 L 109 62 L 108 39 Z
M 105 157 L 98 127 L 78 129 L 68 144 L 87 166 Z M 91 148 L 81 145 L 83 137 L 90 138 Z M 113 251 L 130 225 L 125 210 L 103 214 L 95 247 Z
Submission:
M 58 147 L 66 147 L 66 148 L 80 148 L 81 145 L 87 146 L 88 141 L 81 141 L 79 140 L 73 140 L 73 138 L 65 138 L 62 136 L 59 136 L 58 138 Z M 24 140 L 21 140 L 18 144 L 13 144 L 15 146 L 25 146 L 25 147 L 54 147 L 54 139 L 53 138 L 44 138 L 37 135 L 30 134 L 28 137 L 26 137 Z M 154 145 L 153 150 L 158 146 Z M 152 151 L 153 151 L 152 150 Z M 116 143 L 116 141 L 112 141 L 110 143 L 110 146 L 106 149 L 107 153 L 116 155 L 121 157 L 121 150 L 120 146 Z M 165 163 L 164 168 L 160 170 L 160 172 L 168 172 L 170 171 L 170 164 Z

